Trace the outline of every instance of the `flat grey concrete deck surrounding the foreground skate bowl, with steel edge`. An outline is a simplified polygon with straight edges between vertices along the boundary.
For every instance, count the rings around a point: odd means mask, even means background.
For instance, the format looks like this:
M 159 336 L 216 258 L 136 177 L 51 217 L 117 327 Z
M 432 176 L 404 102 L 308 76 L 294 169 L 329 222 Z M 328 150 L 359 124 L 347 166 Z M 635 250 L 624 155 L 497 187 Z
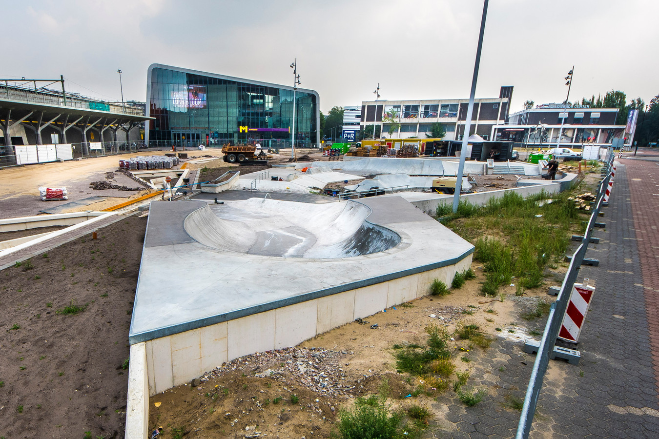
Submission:
M 185 233 L 183 218 L 206 207 L 206 202 L 152 202 L 130 342 L 162 338 L 440 269 L 473 252 L 473 245 L 400 197 L 365 199 L 362 203 L 370 207 L 374 218 L 382 217 L 378 226 L 401 237 L 399 244 L 369 255 L 309 259 L 252 255 L 200 244 Z M 393 212 L 396 215 L 391 215 Z M 386 297 L 381 302 L 378 307 L 386 306 Z M 364 312 L 374 311 L 368 308 Z

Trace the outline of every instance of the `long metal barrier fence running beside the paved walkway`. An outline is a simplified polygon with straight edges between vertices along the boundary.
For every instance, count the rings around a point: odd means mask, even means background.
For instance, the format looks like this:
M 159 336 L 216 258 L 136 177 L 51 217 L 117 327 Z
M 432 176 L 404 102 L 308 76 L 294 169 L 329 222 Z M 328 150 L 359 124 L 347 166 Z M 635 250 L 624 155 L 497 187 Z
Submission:
M 604 161 L 604 172 L 606 172 L 606 176 L 598 185 L 597 196 L 592 208 L 592 214 L 588 220 L 585 236 L 583 237 L 581 244 L 579 244 L 579 247 L 577 247 L 577 250 L 572 255 L 572 260 L 567 269 L 567 273 L 565 274 L 565 278 L 563 278 L 563 285 L 561 286 L 558 298 L 555 303 L 552 303 L 552 307 L 549 311 L 547 324 L 544 328 L 544 335 L 542 336 L 542 340 L 540 340 L 540 346 L 538 347 L 538 353 L 536 355 L 536 360 L 533 363 L 533 370 L 529 379 L 529 387 L 527 388 L 521 416 L 519 417 L 517 436 L 515 436 L 516 439 L 527 439 L 529 437 L 536 405 L 538 405 L 538 397 L 540 396 L 540 390 L 542 390 L 544 374 L 549 365 L 550 355 L 554 351 L 554 345 L 556 345 L 556 337 L 558 336 L 561 323 L 563 322 L 563 316 L 565 315 L 565 310 L 569 303 L 570 293 L 577 280 L 579 268 L 581 267 L 581 263 L 583 263 L 588 249 L 588 242 L 590 242 L 592 229 L 595 227 L 600 208 L 602 207 L 602 202 L 604 201 L 604 192 L 606 191 L 611 178 L 611 167 L 614 157 L 612 149 L 609 149 L 608 157 L 606 157 L 606 161 Z

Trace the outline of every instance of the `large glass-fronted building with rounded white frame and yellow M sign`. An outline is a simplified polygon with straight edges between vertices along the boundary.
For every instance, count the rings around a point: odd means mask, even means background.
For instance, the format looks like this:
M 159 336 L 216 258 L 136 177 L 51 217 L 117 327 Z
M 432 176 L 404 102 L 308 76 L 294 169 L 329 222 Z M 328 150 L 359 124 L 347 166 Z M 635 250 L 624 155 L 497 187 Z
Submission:
M 295 91 L 295 145 L 320 143 L 318 93 Z M 146 84 L 150 145 L 290 147 L 293 87 L 153 64 Z

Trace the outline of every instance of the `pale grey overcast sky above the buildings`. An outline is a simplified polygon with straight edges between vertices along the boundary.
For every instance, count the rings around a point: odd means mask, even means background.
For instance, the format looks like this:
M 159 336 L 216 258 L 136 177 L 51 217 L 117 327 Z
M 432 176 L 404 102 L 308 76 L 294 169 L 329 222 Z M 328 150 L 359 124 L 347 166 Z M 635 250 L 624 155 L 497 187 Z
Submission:
M 467 98 L 482 0 L 36 0 L 3 7 L 2 78 L 67 79 L 67 90 L 146 99 L 152 63 L 292 85 L 320 108 L 374 99 Z M 570 101 L 608 90 L 646 103 L 659 93 L 659 2 L 492 0 L 476 97 L 515 86 Z

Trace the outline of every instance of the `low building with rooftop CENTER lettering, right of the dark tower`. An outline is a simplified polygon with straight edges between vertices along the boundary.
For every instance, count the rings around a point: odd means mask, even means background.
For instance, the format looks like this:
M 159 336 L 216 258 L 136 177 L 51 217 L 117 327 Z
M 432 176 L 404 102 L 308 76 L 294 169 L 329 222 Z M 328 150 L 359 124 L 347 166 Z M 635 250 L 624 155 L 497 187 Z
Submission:
M 495 126 L 492 140 L 542 148 L 558 145 L 561 132 L 564 147 L 581 147 L 585 143 L 610 146 L 616 139 L 629 145 L 631 128 L 616 125 L 617 113 L 617 108 L 590 108 L 590 105 L 569 104 L 567 109 L 563 103 L 536 105 L 513 113 L 507 123 Z

